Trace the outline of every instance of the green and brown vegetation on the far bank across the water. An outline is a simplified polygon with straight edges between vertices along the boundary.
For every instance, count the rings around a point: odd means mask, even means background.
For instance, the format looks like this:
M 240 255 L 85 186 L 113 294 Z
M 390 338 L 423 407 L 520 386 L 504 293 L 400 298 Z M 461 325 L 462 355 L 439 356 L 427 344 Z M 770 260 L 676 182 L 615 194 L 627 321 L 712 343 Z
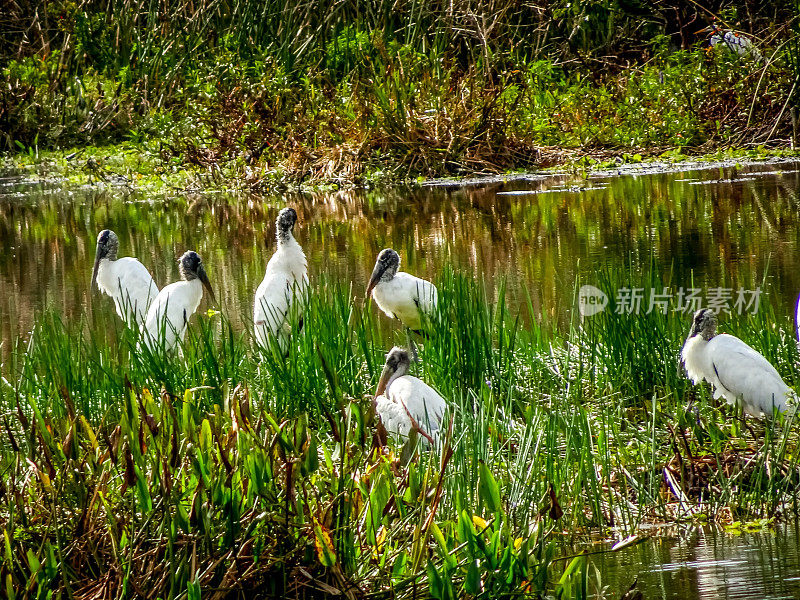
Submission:
M 789 1 L 39 8 L 2 17 L 0 151 L 55 176 L 264 191 L 765 156 L 797 138 Z M 754 50 L 711 48 L 712 23 Z

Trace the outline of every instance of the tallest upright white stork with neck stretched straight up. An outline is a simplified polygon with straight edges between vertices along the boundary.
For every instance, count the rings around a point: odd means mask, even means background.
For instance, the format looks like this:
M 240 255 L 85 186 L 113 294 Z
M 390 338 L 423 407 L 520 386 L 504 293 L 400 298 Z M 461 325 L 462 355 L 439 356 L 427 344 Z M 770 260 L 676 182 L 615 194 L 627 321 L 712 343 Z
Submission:
M 302 298 L 308 289 L 308 264 L 306 255 L 292 231 L 297 222 L 293 208 L 284 208 L 275 220 L 278 249 L 267 263 L 264 280 L 256 290 L 253 302 L 253 324 L 256 342 L 266 348 L 270 337 L 278 340 L 281 351 L 286 352 L 289 325 L 289 311 L 299 311 Z M 302 327 L 302 315 L 300 316 Z

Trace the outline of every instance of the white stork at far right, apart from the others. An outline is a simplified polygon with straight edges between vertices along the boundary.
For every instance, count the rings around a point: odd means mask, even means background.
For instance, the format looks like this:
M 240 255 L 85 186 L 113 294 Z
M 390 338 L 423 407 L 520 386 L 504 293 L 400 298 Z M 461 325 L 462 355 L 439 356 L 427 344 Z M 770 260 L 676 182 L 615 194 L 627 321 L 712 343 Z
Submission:
M 703 308 L 681 350 L 686 373 L 694 383 L 703 379 L 714 387 L 714 398 L 741 405 L 753 416 L 783 413 L 795 394 L 769 361 L 739 338 L 716 335 L 717 317 Z

